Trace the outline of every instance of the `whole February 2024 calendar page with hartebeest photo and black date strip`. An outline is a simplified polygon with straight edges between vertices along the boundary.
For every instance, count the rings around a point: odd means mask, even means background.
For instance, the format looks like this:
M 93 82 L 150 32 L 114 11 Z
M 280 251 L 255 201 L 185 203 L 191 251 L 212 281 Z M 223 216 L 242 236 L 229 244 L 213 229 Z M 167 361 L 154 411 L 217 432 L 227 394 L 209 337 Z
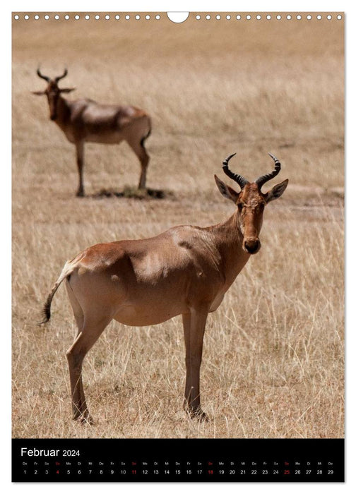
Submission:
M 343 481 L 345 14 L 11 22 L 13 481 Z

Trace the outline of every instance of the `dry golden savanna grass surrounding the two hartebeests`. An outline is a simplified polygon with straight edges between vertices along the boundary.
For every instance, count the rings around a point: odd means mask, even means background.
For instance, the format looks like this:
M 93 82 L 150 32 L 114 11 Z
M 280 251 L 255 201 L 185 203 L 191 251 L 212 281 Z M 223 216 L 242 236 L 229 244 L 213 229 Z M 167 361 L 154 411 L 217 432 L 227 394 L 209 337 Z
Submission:
M 343 20 L 131 18 L 13 20 L 13 437 L 343 437 Z M 125 143 L 85 147 L 76 198 L 74 147 L 49 121 L 37 66 L 69 75 L 69 99 L 131 103 L 153 119 L 148 187 Z M 201 368 L 208 423 L 182 409 L 181 318 L 111 323 L 85 359 L 94 426 L 71 420 L 66 350 L 76 325 L 64 262 L 94 243 L 227 219 L 221 163 L 253 180 L 282 163 L 290 179 L 266 208 L 261 251 L 208 317 Z M 267 188 L 267 186 L 266 186 Z

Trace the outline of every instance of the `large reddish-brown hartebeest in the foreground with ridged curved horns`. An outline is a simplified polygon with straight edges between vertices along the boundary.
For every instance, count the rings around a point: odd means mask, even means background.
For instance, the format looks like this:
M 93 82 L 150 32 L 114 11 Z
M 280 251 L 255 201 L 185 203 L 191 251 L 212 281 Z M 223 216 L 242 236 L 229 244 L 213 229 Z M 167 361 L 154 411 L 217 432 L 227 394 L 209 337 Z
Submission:
M 215 176 L 220 193 L 237 206 L 227 221 L 213 227 L 179 226 L 150 239 L 99 243 L 68 261 L 45 303 L 42 323 L 61 282 L 78 325 L 67 351 L 73 418 L 92 421 L 81 370 L 88 350 L 112 319 L 129 326 L 163 323 L 182 314 L 186 347 L 184 406 L 191 416 L 205 419 L 200 404 L 199 375 L 206 318 L 223 301 L 251 254 L 259 251 L 263 208 L 283 194 L 288 180 L 263 193 L 261 187 L 280 171 L 275 169 L 249 182 L 228 168 L 223 170 L 241 190 L 235 191 Z

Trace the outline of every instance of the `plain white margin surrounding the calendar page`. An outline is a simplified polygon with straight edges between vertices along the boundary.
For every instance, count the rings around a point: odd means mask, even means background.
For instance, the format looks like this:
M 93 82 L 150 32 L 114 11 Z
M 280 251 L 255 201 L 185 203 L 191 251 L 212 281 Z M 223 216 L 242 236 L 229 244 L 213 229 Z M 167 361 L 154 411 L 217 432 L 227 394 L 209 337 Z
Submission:
M 204 494 L 213 493 L 216 488 L 222 488 L 225 492 L 236 493 L 254 493 L 257 490 L 262 490 L 263 493 L 274 493 L 287 489 L 288 491 L 298 492 L 303 490 L 303 493 L 334 493 L 337 490 L 343 492 L 355 492 L 356 488 L 356 456 L 355 456 L 355 384 L 356 375 L 355 356 L 353 355 L 356 349 L 356 318 L 355 311 L 352 311 L 355 306 L 355 287 L 353 279 L 356 279 L 355 260 L 352 260 L 352 251 L 355 245 L 355 228 L 356 207 L 352 204 L 352 184 L 356 183 L 355 169 L 356 156 L 355 146 L 352 146 L 355 140 L 355 90 L 356 88 L 356 70 L 355 70 L 355 47 L 356 47 L 356 7 L 350 1 L 212 1 L 212 0 L 194 0 L 194 1 L 160 1 L 160 0 L 131 0 L 131 1 L 112 1 L 101 0 L 95 1 L 13 1 L 10 6 L 1 8 L 0 26 L 2 33 L 1 40 L 1 64 L 6 67 L 8 74 L 11 73 L 11 11 L 127 11 L 127 12 L 326 12 L 326 11 L 345 11 L 345 40 L 346 40 L 346 126 L 345 126 L 345 159 L 346 159 L 346 182 L 345 182 L 345 199 L 346 199 L 346 397 L 347 397 L 347 413 L 346 413 L 346 483 L 345 484 L 306 484 L 306 483 L 232 483 L 232 484 L 197 484 L 174 483 L 167 484 L 111 484 L 105 483 L 105 490 L 111 492 L 125 493 L 128 490 L 130 493 L 138 489 L 154 489 L 155 493 L 165 492 L 167 488 L 171 492 L 192 491 L 203 488 Z M 2 393 L 5 392 L 6 400 L 1 406 L 1 447 L 0 447 L 0 462 L 1 462 L 1 485 L 7 490 L 20 492 L 26 490 L 26 493 L 38 493 L 39 491 L 63 490 L 69 492 L 78 492 L 78 489 L 85 489 L 86 492 L 95 492 L 101 488 L 101 484 L 54 484 L 50 487 L 48 484 L 11 484 L 11 100 L 8 95 L 11 94 L 11 81 L 9 76 L 4 76 L 4 72 L 0 78 L 1 95 L 3 96 L 3 108 L 5 105 L 6 120 L 2 129 L 2 168 L 8 169 L 8 174 L 5 176 L 4 184 L 8 189 L 7 194 L 3 194 L 0 199 L 1 205 L 1 226 L 3 236 L 5 235 L 6 243 L 4 251 L 1 251 L 2 257 L 5 258 L 3 269 L 1 270 L 1 309 L 3 313 L 4 324 L 2 336 L 5 337 L 5 349 L 3 351 L 3 361 L 1 363 L 1 375 L 4 376 Z M 3 185 L 4 188 L 4 185 Z M 353 194 L 355 195 L 355 194 Z M 5 229 L 5 232 L 4 232 Z M 5 404 L 5 406 L 4 406 Z

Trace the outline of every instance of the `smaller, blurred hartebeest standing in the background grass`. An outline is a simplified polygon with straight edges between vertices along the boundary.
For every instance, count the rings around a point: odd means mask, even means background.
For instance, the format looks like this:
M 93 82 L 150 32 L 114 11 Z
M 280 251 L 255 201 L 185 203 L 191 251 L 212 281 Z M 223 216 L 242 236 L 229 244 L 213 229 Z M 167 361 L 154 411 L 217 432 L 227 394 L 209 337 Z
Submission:
M 93 100 L 69 101 L 63 93 L 75 88 L 59 88 L 59 80 L 67 75 L 51 79 L 43 76 L 37 69 L 37 76 L 47 81 L 45 91 L 34 91 L 34 95 L 46 95 L 49 104 L 49 117 L 65 133 L 70 143 L 76 146 L 76 161 L 79 174 L 79 186 L 76 195 L 84 195 L 83 167 L 84 143 L 119 144 L 126 140 L 141 163 L 141 176 L 138 188 L 146 187 L 146 173 L 149 156 L 145 140 L 150 135 L 150 116 L 136 107 L 99 104 Z

